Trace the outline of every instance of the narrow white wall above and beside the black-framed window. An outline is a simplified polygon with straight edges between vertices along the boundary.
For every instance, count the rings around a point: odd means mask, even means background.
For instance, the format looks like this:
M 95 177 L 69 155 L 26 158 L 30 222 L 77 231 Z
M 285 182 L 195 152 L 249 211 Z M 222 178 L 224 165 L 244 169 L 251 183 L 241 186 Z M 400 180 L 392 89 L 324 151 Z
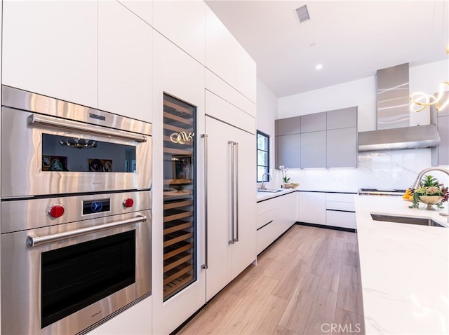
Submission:
M 257 78 L 257 130 L 264 132 L 269 135 L 269 147 L 270 158 L 269 158 L 269 173 L 273 176 L 275 172 L 274 166 L 274 154 L 276 149 L 274 147 L 274 120 L 278 114 L 278 98 L 274 93 L 272 93 L 269 88 Z M 274 183 L 266 183 L 267 188 L 276 187 Z

